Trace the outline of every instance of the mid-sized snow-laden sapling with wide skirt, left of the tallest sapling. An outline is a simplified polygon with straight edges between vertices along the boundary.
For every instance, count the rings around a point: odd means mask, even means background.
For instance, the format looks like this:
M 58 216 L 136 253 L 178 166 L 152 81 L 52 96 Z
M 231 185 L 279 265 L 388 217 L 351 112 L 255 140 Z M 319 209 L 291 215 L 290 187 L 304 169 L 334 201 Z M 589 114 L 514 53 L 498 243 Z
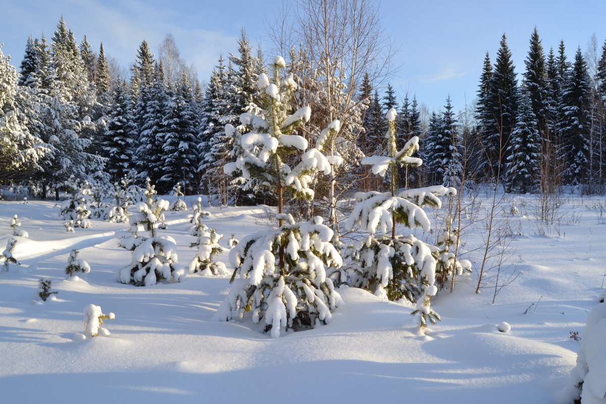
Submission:
M 118 270 L 118 282 L 150 286 L 159 280 L 181 282 L 185 278 L 186 272 L 177 262 L 175 239 L 157 234 L 156 223 L 164 217 L 162 212 L 168 209 L 168 201 L 154 198 L 155 194 L 155 187 L 147 179 L 146 201 L 135 204 L 136 213 L 128 222 L 132 228 L 143 226 L 150 232 L 150 237 L 133 237 L 133 260 Z M 121 245 L 124 241 L 121 240 Z

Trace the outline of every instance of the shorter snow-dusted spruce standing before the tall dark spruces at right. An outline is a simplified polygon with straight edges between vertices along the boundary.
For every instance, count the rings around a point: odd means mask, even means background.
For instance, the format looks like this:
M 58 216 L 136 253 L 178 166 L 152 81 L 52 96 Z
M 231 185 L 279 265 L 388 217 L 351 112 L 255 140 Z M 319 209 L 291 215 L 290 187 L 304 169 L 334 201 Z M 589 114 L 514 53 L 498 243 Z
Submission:
M 508 150 L 507 188 L 516 193 L 535 192 L 539 186 L 541 135 L 532 109 L 530 90 L 521 88 L 516 125 Z

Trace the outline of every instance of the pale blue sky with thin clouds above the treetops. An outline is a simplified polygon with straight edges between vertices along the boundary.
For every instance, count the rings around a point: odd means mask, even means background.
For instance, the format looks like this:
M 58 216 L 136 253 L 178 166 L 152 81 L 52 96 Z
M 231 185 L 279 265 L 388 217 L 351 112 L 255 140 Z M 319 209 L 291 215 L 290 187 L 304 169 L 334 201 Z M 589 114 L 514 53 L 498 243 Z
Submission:
M 284 0 L 296 4 L 295 1 Z M 488 51 L 494 61 L 502 33 L 507 34 L 519 73 L 524 69 L 530 33 L 536 25 L 546 51 L 564 39 L 569 58 L 594 33 L 598 50 L 606 39 L 606 0 L 446 1 L 383 0 L 377 2 L 385 35 L 399 47 L 399 66 L 391 84 L 402 96 L 416 94 L 431 109 L 444 105 L 448 94 L 456 109 L 473 101 Z M 167 33 L 175 36 L 181 56 L 210 76 L 219 53 L 236 51 L 245 27 L 253 44 L 270 47 L 266 20 L 273 20 L 282 0 L 0 0 L 2 50 L 18 66 L 29 35 L 50 38 L 63 15 L 76 39 L 87 35 L 98 50 L 125 67 L 143 39 L 153 51 Z M 266 56 L 268 52 L 266 51 Z M 599 55 L 598 55 L 599 56 Z

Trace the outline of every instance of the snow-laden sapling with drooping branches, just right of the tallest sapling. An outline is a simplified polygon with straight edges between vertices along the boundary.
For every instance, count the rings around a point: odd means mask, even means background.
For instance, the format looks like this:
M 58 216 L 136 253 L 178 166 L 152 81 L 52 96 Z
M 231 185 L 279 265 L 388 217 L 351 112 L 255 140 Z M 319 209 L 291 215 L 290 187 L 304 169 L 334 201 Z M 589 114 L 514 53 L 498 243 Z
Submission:
M 438 292 L 436 268 L 444 259 L 440 248 L 428 245 L 412 234 L 397 234 L 396 225 L 408 228 L 421 227 L 430 230 L 430 221 L 423 206 L 439 207 L 439 196 L 454 195 L 454 188 L 441 185 L 405 190 L 396 193 L 398 167 L 418 167 L 421 159 L 412 157 L 419 149 L 419 138 L 414 136 L 402 150 L 396 148 L 396 111 L 387 112 L 388 156 L 365 157 L 362 164 L 372 165 L 374 174 L 390 174 L 390 191 L 357 193 L 357 204 L 345 228 L 351 231 L 356 225 L 371 235 L 365 237 L 353 248 L 358 259 L 355 286 L 361 286 L 377 296 L 389 300 L 405 299 L 416 303 L 413 315 L 419 314 L 419 325 L 427 326 L 427 321 L 439 320 L 431 309 L 431 296 Z M 391 233 L 389 234 L 388 233 Z

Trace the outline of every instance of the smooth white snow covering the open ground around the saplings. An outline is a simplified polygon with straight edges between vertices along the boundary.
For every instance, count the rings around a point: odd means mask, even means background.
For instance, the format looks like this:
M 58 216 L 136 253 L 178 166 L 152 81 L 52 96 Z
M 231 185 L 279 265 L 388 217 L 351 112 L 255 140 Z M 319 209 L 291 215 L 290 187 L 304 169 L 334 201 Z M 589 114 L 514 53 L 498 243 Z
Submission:
M 602 293 L 606 199 L 569 196 L 560 224 L 548 227 L 527 208 L 532 198 L 514 197 L 519 213 L 513 216 L 511 199 L 499 207 L 516 234 L 514 265 L 505 275 L 518 277 L 494 304 L 490 288 L 474 293 L 476 273 L 461 276 L 454 293 L 441 291 L 433 300 L 442 321 L 422 333 L 409 315 L 412 306 L 343 286 L 344 304 L 331 323 L 278 339 L 251 323 L 213 320 L 230 288 L 228 277 L 191 274 L 181 283 L 139 288 L 116 282 L 116 270 L 131 254 L 113 237 L 124 224 L 92 220 L 91 228 L 67 233 L 54 202 L 1 201 L 0 251 L 11 237 L 13 215 L 29 233 L 27 239 L 16 237 L 21 268 L 0 273 L 1 400 L 558 402 L 580 346 L 570 331 L 583 337 L 587 312 Z M 231 233 L 241 239 L 256 231 L 265 216 L 261 208 L 207 210 L 205 224 L 224 234 L 224 246 Z M 188 214 L 167 212 L 168 228 L 159 231 L 176 239 L 184 267 L 195 256 L 188 247 L 195 240 L 187 235 Z M 468 228 L 465 249 L 481 244 L 482 226 Z M 68 279 L 73 248 L 91 271 Z M 480 256 L 466 256 L 474 271 Z M 227 253 L 220 259 L 233 269 Z M 41 277 L 58 291 L 47 302 L 38 301 Z M 494 277 L 488 281 L 494 286 Z M 116 314 L 103 325 L 110 335 L 84 339 L 82 311 L 89 304 Z M 507 333 L 497 329 L 503 322 L 511 327 Z

